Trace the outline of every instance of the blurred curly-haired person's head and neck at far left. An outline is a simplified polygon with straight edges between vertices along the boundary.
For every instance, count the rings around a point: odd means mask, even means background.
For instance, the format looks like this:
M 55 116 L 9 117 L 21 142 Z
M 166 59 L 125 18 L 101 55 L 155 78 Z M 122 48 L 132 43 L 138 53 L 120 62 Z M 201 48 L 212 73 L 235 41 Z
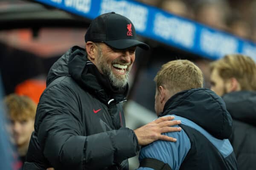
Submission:
M 30 136 L 34 130 L 36 104 L 27 96 L 9 94 L 4 98 L 4 105 L 11 142 L 24 164 Z

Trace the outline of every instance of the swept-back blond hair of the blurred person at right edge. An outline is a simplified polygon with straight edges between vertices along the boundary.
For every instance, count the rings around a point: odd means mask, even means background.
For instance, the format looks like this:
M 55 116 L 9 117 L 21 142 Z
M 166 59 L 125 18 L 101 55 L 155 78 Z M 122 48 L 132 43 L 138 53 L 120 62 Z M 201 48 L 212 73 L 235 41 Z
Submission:
M 256 63 L 242 54 L 229 54 L 210 64 L 222 79 L 236 78 L 241 90 L 256 90 Z

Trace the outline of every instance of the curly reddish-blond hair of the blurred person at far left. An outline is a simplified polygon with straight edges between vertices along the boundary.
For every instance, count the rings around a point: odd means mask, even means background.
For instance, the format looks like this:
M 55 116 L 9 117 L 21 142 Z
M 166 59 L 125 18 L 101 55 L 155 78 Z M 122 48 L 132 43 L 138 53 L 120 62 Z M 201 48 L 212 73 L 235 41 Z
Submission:
M 6 116 L 8 119 L 23 121 L 35 119 L 37 105 L 27 96 L 10 94 L 4 98 Z

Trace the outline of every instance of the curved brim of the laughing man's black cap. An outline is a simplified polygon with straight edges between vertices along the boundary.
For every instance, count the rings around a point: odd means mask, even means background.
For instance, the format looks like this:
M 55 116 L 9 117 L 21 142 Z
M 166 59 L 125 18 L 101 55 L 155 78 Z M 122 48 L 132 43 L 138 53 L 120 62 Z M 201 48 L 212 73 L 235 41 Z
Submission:
M 143 48 L 144 50 L 149 50 L 149 45 L 145 44 L 144 42 L 140 42 L 138 40 L 132 39 L 122 39 L 122 40 L 112 40 L 112 41 L 104 41 L 107 45 L 122 50 L 125 48 L 135 47 L 138 46 Z

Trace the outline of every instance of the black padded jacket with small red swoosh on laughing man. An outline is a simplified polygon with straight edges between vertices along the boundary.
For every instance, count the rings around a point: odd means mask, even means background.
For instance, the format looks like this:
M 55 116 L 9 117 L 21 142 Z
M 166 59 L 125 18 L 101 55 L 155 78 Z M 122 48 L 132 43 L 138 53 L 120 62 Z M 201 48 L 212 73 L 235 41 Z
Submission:
M 75 46 L 52 66 L 38 104 L 25 170 L 128 170 L 140 146 L 125 127 L 123 91 Z

